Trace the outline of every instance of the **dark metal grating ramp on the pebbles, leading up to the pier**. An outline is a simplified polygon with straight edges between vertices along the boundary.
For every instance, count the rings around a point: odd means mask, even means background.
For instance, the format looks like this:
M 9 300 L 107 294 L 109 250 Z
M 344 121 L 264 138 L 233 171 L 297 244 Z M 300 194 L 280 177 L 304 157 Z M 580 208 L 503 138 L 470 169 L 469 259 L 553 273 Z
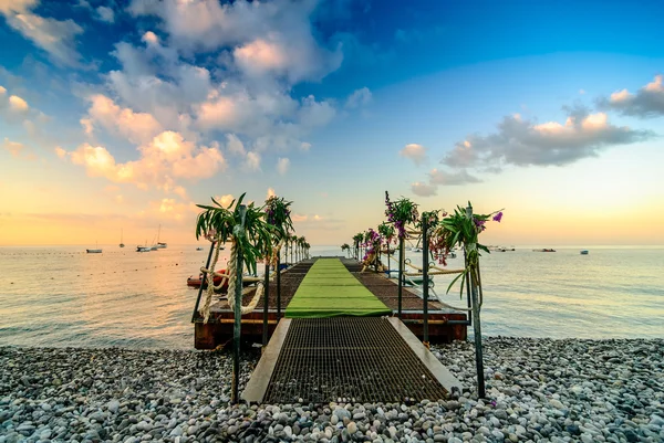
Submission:
M 338 317 L 291 320 L 263 402 L 403 402 L 446 397 L 445 388 L 388 319 Z

